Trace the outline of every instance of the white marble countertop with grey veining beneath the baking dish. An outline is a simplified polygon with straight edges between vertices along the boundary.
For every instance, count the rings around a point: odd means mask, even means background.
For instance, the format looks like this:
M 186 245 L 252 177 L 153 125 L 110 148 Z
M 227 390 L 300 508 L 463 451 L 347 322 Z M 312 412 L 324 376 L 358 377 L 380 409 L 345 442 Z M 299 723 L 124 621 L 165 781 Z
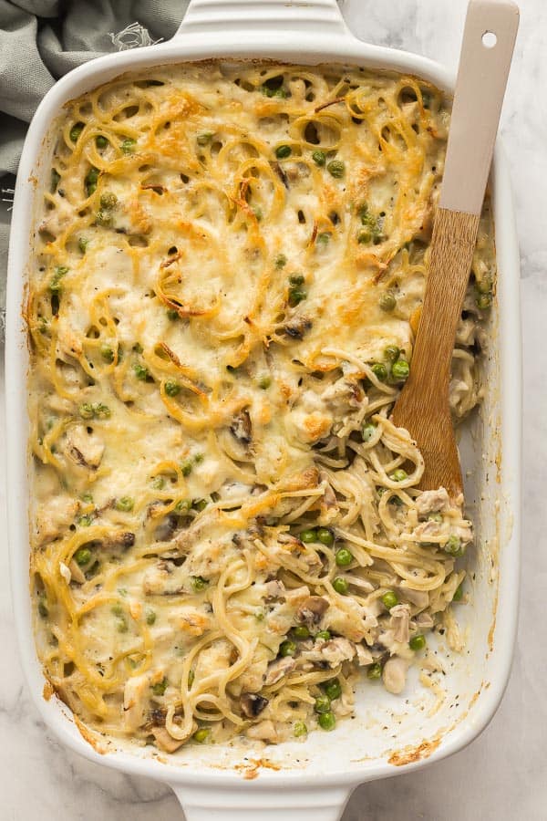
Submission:
M 343 7 L 347 22 L 363 39 L 456 65 L 465 0 L 345 0 Z M 502 120 L 521 238 L 524 335 L 521 620 L 511 681 L 490 727 L 468 749 L 423 771 L 360 787 L 344 821 L 547 817 L 547 642 L 540 630 L 547 590 L 547 529 L 545 499 L 539 491 L 542 479 L 547 481 L 547 435 L 542 438 L 547 434 L 542 410 L 547 399 L 542 356 L 547 317 L 546 36 L 547 4 L 521 0 L 521 31 Z M 4 405 L 0 407 L 4 415 Z M 4 471 L 0 533 L 5 533 Z M 0 647 L 3 821 L 182 819 L 169 787 L 84 761 L 46 731 L 17 660 L 6 546 L 0 551 Z

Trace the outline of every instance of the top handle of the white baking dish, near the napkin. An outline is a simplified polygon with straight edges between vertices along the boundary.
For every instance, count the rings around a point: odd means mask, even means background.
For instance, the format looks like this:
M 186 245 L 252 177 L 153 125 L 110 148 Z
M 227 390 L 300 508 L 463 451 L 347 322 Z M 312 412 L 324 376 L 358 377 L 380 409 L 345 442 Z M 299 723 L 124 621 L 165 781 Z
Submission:
M 191 0 L 175 37 L 230 30 L 241 37 L 257 29 L 351 36 L 336 0 Z

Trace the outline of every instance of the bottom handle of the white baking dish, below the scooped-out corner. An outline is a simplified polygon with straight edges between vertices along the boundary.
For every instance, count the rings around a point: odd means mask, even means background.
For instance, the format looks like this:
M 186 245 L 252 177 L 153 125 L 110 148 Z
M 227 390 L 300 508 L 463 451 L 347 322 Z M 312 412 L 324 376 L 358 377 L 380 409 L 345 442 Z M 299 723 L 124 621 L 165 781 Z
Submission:
M 211 789 L 171 785 L 186 821 L 338 821 L 353 787 Z

